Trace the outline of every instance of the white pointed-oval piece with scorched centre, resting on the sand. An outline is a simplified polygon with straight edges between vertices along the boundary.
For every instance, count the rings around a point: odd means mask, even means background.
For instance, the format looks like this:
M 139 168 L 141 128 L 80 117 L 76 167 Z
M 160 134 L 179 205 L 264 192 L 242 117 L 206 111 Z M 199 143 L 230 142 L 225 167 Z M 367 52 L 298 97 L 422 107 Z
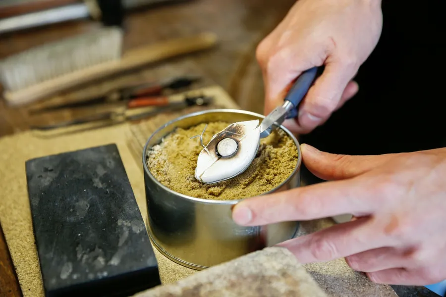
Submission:
M 259 144 L 259 120 L 227 126 L 198 155 L 195 178 L 213 184 L 243 173 L 254 159 Z

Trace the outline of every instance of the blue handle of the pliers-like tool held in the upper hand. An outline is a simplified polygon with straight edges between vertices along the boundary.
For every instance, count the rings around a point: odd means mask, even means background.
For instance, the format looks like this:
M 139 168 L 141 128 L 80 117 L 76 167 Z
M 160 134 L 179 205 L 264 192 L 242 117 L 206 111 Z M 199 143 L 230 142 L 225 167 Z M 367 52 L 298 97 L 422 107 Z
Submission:
M 318 68 L 319 67 L 313 67 L 302 72 L 289 90 L 285 100 L 290 101 L 294 105 L 294 108 L 291 109 L 291 111 L 286 115 L 287 119 L 297 117 L 297 107 L 299 106 L 300 101 L 302 101 L 307 94 L 310 87 L 313 85 Z

